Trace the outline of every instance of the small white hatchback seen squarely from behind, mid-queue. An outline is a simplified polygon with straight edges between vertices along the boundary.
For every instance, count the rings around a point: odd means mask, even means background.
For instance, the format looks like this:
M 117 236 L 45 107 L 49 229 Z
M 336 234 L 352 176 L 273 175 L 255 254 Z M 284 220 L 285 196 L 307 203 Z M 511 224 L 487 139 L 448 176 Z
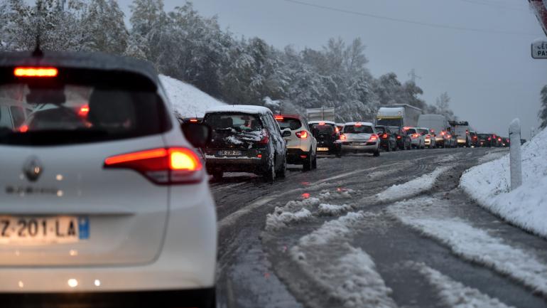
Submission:
M 342 153 L 364 152 L 380 156 L 380 139 L 369 122 L 347 122 L 342 134 Z

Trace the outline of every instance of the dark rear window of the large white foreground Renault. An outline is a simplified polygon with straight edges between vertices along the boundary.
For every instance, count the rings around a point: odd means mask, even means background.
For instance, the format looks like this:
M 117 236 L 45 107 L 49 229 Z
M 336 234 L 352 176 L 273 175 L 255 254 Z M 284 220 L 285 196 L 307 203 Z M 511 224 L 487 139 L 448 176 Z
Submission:
M 0 127 L 0 144 L 55 145 L 101 142 L 159 134 L 168 119 L 156 92 L 115 87 L 25 83 L 0 85 L 15 127 Z M 28 117 L 24 109 L 32 110 Z

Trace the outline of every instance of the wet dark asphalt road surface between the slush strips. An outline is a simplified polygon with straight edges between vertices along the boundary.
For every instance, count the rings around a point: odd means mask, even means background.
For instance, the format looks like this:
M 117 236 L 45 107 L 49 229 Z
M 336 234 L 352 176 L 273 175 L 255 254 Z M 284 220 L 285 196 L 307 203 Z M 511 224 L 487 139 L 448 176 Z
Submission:
M 381 156 L 346 155 L 318 159 L 318 169 L 303 172 L 289 166 L 285 179 L 264 183 L 252 174 L 227 174 L 211 182 L 219 220 L 217 270 L 218 307 L 341 307 L 323 286 L 308 279 L 288 255 L 299 238 L 313 232 L 325 221 L 338 217 L 314 216 L 276 232 L 266 232 L 266 215 L 276 206 L 304 196 L 330 191 L 352 190 L 345 198 L 332 201 L 352 204 L 356 211 L 376 213 L 372 223 L 354 230 L 347 240 L 374 260 L 377 271 L 399 307 L 445 307 L 438 292 L 428 284 L 411 262 L 424 262 L 453 280 L 476 288 L 514 307 L 547 307 L 547 299 L 521 282 L 499 275 L 481 265 L 463 260 L 433 238 L 428 238 L 385 213 L 391 203 L 381 203 L 374 195 L 394 184 L 404 184 L 428 174 L 439 166 L 453 166 L 433 189 L 421 196 L 433 196 L 450 203 L 447 216 L 464 218 L 477 228 L 485 228 L 514 247 L 534 252 L 547 264 L 547 240 L 526 233 L 497 218 L 472 201 L 457 187 L 461 174 L 488 153 L 507 149 L 424 149 L 382 152 Z M 500 153 L 500 154 L 501 154 Z M 309 194 L 309 195 L 308 195 Z M 329 262 L 335 257 L 335 243 L 318 257 Z M 340 250 L 342 251 L 342 250 Z M 322 260 L 323 261 L 323 260 Z M 523 260 L 526 262 L 526 260 Z

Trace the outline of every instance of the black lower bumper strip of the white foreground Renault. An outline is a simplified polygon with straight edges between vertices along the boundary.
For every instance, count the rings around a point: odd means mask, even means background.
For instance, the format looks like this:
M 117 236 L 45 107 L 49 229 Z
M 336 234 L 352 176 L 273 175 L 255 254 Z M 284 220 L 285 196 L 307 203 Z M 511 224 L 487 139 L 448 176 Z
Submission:
M 0 293 L 3 308 L 214 307 L 215 288 L 140 292 Z

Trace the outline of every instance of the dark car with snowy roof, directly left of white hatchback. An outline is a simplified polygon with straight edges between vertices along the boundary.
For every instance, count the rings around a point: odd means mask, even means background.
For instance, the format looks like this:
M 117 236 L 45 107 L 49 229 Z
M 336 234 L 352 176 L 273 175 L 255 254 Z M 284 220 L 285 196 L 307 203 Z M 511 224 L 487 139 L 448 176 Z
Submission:
M 342 156 L 342 143 L 340 143 L 340 130 L 335 122 L 310 121 L 313 137 L 317 139 L 318 154 L 335 154 Z

